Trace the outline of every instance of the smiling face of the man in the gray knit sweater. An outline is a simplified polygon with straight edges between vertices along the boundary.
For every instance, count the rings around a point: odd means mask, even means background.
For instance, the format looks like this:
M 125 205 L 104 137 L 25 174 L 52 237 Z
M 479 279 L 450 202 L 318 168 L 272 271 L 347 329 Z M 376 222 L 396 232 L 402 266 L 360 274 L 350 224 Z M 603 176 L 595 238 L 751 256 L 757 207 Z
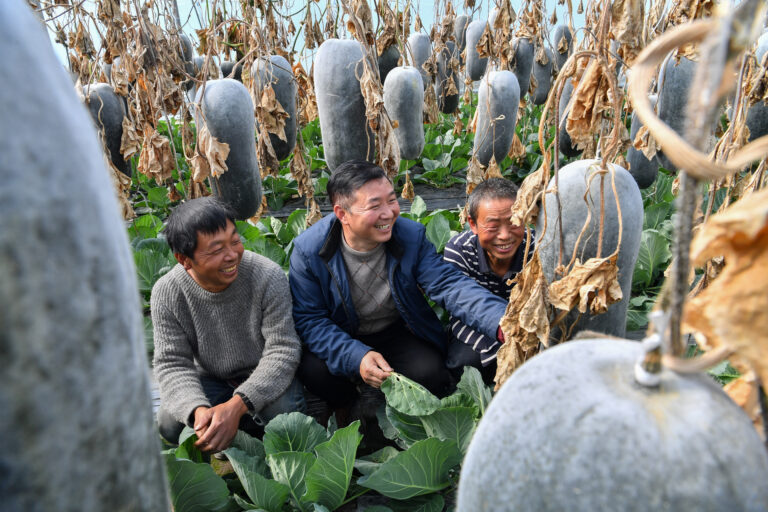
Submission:
M 240 234 L 228 220 L 226 227 L 216 233 L 197 233 L 197 247 L 192 258 L 177 254 L 176 259 L 202 288 L 221 292 L 237 278 L 243 251 Z

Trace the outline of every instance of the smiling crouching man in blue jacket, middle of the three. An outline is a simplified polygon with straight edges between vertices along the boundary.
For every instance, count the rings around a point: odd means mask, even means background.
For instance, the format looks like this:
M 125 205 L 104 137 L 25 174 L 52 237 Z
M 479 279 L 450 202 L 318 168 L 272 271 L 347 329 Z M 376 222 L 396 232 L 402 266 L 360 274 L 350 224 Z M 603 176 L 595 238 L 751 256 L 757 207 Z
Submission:
M 328 181 L 333 214 L 294 240 L 289 282 L 305 344 L 298 375 L 334 409 L 396 371 L 445 395 L 448 336 L 427 297 L 493 338 L 506 301 L 443 261 L 424 226 L 399 219 L 380 168 L 349 161 Z

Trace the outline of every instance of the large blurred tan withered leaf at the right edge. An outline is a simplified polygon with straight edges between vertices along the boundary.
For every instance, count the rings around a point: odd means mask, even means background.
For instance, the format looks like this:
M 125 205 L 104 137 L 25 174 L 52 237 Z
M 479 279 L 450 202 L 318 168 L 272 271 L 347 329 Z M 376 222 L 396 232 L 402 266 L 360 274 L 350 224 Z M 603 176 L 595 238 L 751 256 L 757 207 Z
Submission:
M 707 347 L 728 347 L 768 382 L 768 189 L 710 217 L 691 243 L 691 261 L 725 257 L 720 275 L 685 304 L 683 323 Z

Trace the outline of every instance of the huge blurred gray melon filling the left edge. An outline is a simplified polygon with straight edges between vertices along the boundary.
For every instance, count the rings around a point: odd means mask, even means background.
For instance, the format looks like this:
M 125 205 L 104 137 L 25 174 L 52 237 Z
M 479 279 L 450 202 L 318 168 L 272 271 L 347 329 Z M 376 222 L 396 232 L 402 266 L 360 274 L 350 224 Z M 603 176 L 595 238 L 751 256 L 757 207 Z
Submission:
M 0 508 L 170 510 L 96 128 L 27 3 L 0 11 Z

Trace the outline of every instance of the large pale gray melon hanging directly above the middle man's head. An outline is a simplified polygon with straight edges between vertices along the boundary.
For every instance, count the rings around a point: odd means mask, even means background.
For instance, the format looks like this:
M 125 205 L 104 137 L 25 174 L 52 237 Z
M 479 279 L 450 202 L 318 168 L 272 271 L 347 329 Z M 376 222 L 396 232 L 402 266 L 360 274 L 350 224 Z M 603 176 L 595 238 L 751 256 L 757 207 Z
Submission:
M 325 162 L 333 172 L 348 160 L 374 158 L 374 136 L 360 92 L 363 50 L 352 40 L 327 39 L 315 55 L 314 79 Z

